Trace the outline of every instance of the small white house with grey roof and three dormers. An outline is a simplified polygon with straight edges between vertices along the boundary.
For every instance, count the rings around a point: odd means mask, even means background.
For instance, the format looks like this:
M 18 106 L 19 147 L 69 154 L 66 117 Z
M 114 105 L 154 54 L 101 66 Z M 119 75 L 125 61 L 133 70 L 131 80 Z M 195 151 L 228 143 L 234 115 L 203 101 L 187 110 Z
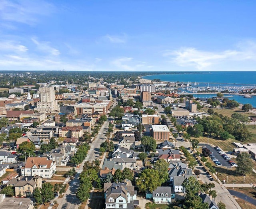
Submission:
M 152 192 L 153 202 L 156 204 L 170 204 L 172 201 L 171 187 L 157 187 Z

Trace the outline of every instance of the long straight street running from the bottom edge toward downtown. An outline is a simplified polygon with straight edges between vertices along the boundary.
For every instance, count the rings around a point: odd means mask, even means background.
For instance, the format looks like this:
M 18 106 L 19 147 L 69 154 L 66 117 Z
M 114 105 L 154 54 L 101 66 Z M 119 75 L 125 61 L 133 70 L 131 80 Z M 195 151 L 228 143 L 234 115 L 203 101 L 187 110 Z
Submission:
M 99 157 L 98 151 L 100 149 L 100 144 L 106 140 L 105 134 L 108 131 L 108 124 L 109 122 L 104 122 L 104 124 L 99 130 L 98 136 L 96 136 L 95 140 L 92 142 L 86 158 L 84 159 L 80 167 L 76 168 L 77 174 L 74 180 L 70 181 L 70 187 L 66 191 L 64 197 L 62 198 L 62 201 L 58 206 L 58 209 L 78 208 L 78 205 L 80 204 L 80 200 L 76 198 L 76 191 L 80 184 L 79 175 L 83 171 L 84 162 L 86 161 L 92 162 Z

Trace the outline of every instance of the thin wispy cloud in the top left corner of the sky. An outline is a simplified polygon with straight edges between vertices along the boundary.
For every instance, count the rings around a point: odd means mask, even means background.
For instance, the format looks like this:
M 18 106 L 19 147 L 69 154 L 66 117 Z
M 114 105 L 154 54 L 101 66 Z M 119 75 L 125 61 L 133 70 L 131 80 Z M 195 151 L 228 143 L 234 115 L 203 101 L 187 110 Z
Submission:
M 54 6 L 44 1 L 0 1 L 0 19 L 35 25 L 40 16 L 48 16 L 55 10 Z

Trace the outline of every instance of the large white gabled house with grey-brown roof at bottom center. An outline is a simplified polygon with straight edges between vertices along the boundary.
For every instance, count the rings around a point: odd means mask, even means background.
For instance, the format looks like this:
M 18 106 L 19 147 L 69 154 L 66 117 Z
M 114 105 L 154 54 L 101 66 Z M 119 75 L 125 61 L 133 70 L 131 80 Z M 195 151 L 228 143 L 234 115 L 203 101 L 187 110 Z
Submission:
M 139 204 L 137 191 L 131 181 L 124 183 L 104 183 L 105 208 L 134 208 Z

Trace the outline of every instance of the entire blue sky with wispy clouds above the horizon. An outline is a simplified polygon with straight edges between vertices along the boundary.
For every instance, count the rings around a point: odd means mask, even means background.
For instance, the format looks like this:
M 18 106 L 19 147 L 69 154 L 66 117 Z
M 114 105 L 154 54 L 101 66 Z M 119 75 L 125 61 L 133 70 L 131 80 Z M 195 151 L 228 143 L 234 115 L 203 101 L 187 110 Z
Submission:
M 256 1 L 0 1 L 0 70 L 255 71 Z

